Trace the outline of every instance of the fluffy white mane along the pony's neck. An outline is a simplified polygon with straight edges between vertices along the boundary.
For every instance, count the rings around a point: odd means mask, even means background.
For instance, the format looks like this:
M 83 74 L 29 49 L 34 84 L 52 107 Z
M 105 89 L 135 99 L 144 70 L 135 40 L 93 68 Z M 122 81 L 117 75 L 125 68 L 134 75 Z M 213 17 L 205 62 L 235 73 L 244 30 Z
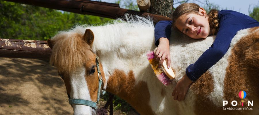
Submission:
M 137 49 L 145 49 L 147 46 L 150 46 L 150 44 L 154 44 L 154 24 L 150 17 L 126 14 L 125 20 L 119 18 L 102 26 L 76 26 L 68 32 L 76 32 L 83 35 L 86 29 L 91 29 L 94 32 L 95 39 L 92 49 L 96 53 L 107 53 L 110 51 L 118 51 L 118 49 L 127 50 L 127 53 L 130 53 L 128 51 L 132 51 L 131 53 L 139 53 L 139 51 L 136 51 Z M 146 38 L 148 38 L 148 41 L 146 41 Z M 140 42 L 143 40 L 147 43 Z M 140 43 L 145 43 L 146 45 Z M 135 45 L 134 47 L 130 46 L 133 44 Z M 123 53 L 123 51 L 121 53 Z

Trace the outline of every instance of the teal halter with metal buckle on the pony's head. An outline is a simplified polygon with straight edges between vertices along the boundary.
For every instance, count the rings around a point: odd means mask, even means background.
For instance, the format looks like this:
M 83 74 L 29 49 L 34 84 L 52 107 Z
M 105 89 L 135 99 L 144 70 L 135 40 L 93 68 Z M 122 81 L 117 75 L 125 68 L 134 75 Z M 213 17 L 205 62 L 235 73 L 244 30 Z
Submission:
M 89 101 L 89 100 L 84 100 L 84 99 L 70 99 L 70 96 L 68 95 L 68 98 L 69 98 L 68 101 L 69 101 L 70 105 L 72 105 L 72 104 L 85 105 L 85 106 L 90 106 L 90 107 L 92 107 L 92 108 L 94 108 L 96 110 L 97 103 L 100 100 L 101 87 L 103 88 L 102 89 L 102 94 L 104 95 L 104 93 L 105 93 L 105 89 L 104 89 L 104 86 L 103 86 L 104 84 L 103 84 L 103 80 L 102 80 L 102 74 L 101 74 L 101 71 L 100 71 L 100 68 L 99 68 L 99 57 L 97 57 L 97 56 L 96 56 L 96 68 L 97 68 L 97 71 L 98 71 L 98 79 L 99 79 L 98 93 L 97 93 L 97 100 L 96 100 L 96 102 Z

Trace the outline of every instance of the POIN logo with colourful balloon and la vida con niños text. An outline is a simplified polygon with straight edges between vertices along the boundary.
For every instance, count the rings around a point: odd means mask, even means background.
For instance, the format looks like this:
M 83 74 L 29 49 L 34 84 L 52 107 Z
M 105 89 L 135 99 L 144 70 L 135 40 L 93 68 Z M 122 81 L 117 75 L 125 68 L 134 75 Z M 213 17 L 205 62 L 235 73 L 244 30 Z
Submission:
M 223 110 L 253 110 L 253 108 L 249 108 L 249 107 L 254 106 L 254 101 L 248 100 L 247 101 L 248 107 L 243 107 L 244 106 L 244 100 L 245 100 L 245 97 L 246 97 L 245 91 L 240 91 L 238 93 L 238 96 L 241 99 L 241 103 L 240 103 L 241 106 L 242 106 L 241 108 L 235 108 L 235 106 L 237 106 L 238 102 L 236 100 L 233 100 L 233 101 L 231 101 L 231 106 L 233 106 L 233 107 L 228 107 L 228 108 L 223 107 Z M 226 106 L 227 104 L 228 104 L 228 101 L 223 100 L 223 106 Z

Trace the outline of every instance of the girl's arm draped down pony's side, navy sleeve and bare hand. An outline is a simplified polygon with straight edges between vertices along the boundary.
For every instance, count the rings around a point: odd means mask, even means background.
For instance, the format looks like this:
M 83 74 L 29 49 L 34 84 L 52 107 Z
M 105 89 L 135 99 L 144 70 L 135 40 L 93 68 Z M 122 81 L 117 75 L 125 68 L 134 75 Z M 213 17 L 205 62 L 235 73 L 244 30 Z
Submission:
M 218 60 L 225 55 L 231 40 L 237 31 L 259 26 L 259 23 L 256 20 L 244 14 L 230 10 L 224 10 L 222 12 L 224 15 L 221 14 L 221 18 L 219 18 L 219 31 L 214 43 L 199 57 L 194 64 L 191 64 L 188 68 L 186 68 L 186 74 L 182 77 L 182 79 L 180 79 L 180 81 L 178 81 L 172 93 L 174 100 L 184 100 L 189 85 L 193 81 L 197 80 L 203 73 L 216 64 L 216 62 L 218 62 Z

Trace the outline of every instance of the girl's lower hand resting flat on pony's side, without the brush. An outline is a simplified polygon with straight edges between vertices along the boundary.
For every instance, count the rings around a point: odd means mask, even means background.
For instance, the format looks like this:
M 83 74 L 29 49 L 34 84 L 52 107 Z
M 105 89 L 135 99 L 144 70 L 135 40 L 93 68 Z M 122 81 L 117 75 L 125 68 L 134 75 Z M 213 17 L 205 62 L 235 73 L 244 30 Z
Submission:
M 193 83 L 193 81 L 188 78 L 188 76 L 185 74 L 180 81 L 176 84 L 174 91 L 172 93 L 172 96 L 174 96 L 174 100 L 182 101 L 185 98 L 185 95 L 187 94 L 187 91 L 189 89 L 189 86 Z

